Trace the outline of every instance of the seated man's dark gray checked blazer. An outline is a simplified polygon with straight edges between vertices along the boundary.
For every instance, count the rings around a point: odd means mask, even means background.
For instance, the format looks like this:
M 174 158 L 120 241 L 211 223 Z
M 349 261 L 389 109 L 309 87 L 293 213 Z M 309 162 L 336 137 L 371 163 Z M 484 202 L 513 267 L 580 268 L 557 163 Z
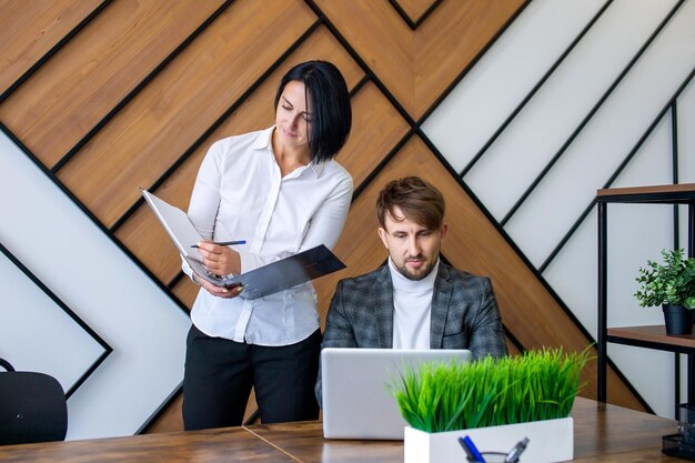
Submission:
M 324 348 L 393 346 L 393 283 L 389 265 L 341 280 L 325 321 Z M 469 349 L 473 359 L 506 355 L 497 301 L 488 278 L 440 261 L 434 281 L 430 349 Z M 315 386 L 322 405 L 321 370 Z

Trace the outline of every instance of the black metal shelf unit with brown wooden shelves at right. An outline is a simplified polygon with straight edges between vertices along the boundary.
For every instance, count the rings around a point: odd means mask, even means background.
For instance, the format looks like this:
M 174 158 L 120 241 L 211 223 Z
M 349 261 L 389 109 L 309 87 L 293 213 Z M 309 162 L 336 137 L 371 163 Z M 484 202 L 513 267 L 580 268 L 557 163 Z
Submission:
M 695 252 L 695 183 L 657 187 L 614 188 L 598 190 L 596 207 L 598 212 L 598 401 L 606 402 L 607 343 L 634 345 L 674 352 L 676 355 L 676 405 L 679 402 L 678 355 L 687 355 L 687 401 L 695 403 L 695 335 L 666 335 L 664 325 L 607 328 L 607 207 L 608 203 L 623 204 L 687 204 L 688 236 L 687 252 Z

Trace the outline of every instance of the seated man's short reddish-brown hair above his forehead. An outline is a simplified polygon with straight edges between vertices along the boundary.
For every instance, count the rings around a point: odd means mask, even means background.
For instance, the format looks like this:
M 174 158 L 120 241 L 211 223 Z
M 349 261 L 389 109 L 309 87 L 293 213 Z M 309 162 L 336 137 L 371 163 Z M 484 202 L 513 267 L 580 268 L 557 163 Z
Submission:
M 394 214 L 399 207 L 403 217 Z M 397 222 L 407 219 L 429 230 L 437 230 L 444 222 L 444 197 L 432 183 L 419 177 L 405 177 L 386 183 L 376 200 L 376 218 L 386 228 L 386 214 Z

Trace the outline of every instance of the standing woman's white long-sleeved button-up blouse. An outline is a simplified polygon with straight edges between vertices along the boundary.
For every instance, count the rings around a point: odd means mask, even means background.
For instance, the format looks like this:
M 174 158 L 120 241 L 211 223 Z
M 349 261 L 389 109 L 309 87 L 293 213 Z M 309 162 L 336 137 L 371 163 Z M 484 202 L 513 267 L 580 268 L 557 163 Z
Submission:
M 204 239 L 234 246 L 245 273 L 325 244 L 333 249 L 352 199 L 352 177 L 331 160 L 284 178 L 273 154 L 274 127 L 215 142 L 205 155 L 189 218 Z M 183 271 L 191 268 L 183 261 Z M 319 329 L 311 282 L 265 298 L 222 299 L 201 288 L 191 319 L 203 333 L 259 345 L 289 345 Z

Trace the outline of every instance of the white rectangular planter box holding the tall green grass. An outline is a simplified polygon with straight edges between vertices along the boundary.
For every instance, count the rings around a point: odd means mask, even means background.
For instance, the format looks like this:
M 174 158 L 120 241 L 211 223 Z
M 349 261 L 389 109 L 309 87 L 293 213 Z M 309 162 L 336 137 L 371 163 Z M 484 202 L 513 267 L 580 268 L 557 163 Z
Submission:
M 520 462 L 554 463 L 574 457 L 574 421 L 563 417 L 432 434 L 405 426 L 405 463 L 466 462 L 457 440 L 464 435 L 470 436 L 481 452 L 508 452 L 518 441 L 528 437 Z M 488 461 L 502 461 L 493 456 Z

